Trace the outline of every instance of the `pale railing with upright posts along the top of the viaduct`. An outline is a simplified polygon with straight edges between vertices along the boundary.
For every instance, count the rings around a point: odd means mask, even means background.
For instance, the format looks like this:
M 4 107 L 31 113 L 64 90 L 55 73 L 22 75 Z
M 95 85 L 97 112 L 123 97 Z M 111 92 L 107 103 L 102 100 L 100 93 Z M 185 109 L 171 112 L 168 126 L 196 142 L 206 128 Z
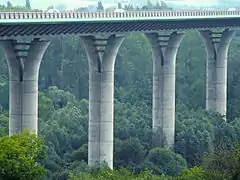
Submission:
M 92 19 L 92 18 L 151 18 L 151 17 L 196 17 L 233 16 L 240 11 L 126 11 L 126 12 L 0 12 L 0 19 Z

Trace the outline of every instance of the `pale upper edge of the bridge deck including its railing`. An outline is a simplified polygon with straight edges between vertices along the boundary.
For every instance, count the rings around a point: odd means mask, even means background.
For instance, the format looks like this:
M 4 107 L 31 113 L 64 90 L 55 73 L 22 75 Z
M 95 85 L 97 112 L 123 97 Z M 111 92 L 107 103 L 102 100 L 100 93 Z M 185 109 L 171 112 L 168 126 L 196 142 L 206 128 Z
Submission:
M 1 12 L 0 24 L 240 18 L 240 11 Z

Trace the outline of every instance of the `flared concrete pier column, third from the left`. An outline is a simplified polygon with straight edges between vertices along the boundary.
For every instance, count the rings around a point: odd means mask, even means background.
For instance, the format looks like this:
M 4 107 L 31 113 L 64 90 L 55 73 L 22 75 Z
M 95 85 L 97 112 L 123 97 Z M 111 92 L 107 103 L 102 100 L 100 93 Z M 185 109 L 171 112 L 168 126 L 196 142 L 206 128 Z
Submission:
M 183 33 L 146 34 L 153 58 L 153 143 L 172 148 L 175 136 L 175 64 Z

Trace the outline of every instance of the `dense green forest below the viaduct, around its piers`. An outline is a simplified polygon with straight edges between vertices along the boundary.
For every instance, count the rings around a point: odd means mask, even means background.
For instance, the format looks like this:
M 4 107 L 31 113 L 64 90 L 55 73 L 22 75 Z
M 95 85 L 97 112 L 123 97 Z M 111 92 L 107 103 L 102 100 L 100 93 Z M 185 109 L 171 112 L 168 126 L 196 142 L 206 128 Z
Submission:
M 229 49 L 225 122 L 205 111 L 206 52 L 198 32 L 186 31 L 176 61 L 176 136 L 170 151 L 152 145 L 149 44 L 143 34 L 126 36 L 115 64 L 113 171 L 87 166 L 88 61 L 81 37 L 50 40 L 39 76 L 38 138 L 27 132 L 7 136 L 8 67 L 0 49 L 0 179 L 240 178 L 238 37 Z

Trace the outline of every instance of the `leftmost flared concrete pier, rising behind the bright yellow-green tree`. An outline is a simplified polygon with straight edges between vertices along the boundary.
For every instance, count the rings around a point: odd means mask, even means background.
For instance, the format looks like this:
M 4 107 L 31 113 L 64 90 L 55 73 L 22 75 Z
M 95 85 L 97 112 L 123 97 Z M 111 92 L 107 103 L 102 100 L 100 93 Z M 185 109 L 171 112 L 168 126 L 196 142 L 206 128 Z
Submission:
M 9 135 L 38 131 L 38 74 L 49 41 L 0 41 L 9 69 Z

